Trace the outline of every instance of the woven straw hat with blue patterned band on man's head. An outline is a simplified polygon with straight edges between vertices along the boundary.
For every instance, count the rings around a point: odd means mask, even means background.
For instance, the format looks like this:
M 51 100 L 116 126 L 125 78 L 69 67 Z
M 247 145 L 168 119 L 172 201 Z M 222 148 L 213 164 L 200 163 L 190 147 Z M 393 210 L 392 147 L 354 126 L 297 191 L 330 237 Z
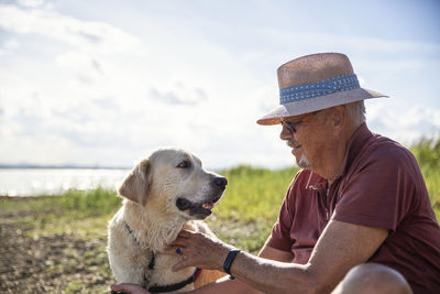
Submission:
M 276 124 L 282 118 L 388 97 L 361 88 L 349 57 L 340 53 L 318 53 L 293 59 L 279 66 L 277 75 L 279 106 L 258 119 L 260 124 Z

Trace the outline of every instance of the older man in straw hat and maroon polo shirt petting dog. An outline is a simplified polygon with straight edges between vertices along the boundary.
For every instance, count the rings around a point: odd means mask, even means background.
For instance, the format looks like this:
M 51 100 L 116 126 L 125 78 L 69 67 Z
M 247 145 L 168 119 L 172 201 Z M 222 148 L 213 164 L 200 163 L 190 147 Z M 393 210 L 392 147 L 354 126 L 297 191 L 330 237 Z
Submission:
M 440 229 L 419 166 L 364 122 L 363 100 L 386 96 L 361 88 L 343 54 L 302 56 L 277 73 L 280 105 L 257 122 L 283 126 L 302 170 L 271 236 L 254 257 L 182 231 L 166 251 L 184 257 L 174 270 L 237 277 L 191 293 L 440 293 Z

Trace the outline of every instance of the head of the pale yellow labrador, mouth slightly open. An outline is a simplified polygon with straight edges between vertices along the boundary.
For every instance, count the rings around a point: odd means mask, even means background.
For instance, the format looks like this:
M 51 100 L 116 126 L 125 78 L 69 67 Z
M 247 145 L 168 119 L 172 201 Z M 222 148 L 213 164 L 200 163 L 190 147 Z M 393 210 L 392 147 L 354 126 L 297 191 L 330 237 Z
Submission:
M 227 184 L 226 177 L 205 171 L 194 154 L 161 149 L 133 168 L 119 194 L 148 210 L 204 219 L 211 214 Z

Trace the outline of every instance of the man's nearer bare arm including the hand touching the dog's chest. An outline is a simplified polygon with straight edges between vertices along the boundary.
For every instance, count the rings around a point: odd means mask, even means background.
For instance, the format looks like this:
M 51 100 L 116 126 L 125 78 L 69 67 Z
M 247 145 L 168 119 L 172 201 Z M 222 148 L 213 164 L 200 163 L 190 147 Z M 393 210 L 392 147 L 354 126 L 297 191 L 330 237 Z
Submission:
M 265 293 L 330 292 L 351 268 L 367 261 L 387 236 L 387 229 L 331 220 L 307 264 L 272 261 L 240 252 L 232 263 L 231 272 Z M 230 246 L 194 232 L 183 232 L 175 244 L 185 247 L 186 257 L 175 265 L 175 270 L 188 265 L 222 270 L 230 250 Z M 275 249 L 267 249 L 267 254 L 272 250 Z M 277 251 L 273 253 L 284 255 Z

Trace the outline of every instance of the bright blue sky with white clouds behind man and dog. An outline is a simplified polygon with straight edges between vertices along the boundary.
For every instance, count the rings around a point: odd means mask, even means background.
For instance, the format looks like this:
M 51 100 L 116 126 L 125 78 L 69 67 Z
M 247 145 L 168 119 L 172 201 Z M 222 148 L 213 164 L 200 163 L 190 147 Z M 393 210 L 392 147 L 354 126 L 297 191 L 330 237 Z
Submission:
M 162 146 L 209 168 L 295 162 L 276 69 L 346 54 L 373 132 L 440 133 L 440 1 L 0 0 L 0 163 L 132 166 Z

